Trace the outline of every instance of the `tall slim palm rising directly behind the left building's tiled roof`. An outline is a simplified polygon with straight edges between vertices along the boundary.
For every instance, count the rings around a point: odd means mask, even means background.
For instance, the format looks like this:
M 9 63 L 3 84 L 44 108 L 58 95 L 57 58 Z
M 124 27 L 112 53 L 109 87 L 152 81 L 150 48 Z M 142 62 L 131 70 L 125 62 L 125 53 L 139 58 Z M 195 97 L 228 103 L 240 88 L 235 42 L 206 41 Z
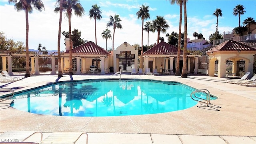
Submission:
M 97 37 L 96 37 L 96 19 L 100 20 L 102 19 L 101 16 L 101 10 L 100 6 L 97 6 L 97 4 L 93 4 L 92 8 L 89 11 L 90 19 L 94 18 L 94 28 L 95 28 L 95 43 L 97 44 Z

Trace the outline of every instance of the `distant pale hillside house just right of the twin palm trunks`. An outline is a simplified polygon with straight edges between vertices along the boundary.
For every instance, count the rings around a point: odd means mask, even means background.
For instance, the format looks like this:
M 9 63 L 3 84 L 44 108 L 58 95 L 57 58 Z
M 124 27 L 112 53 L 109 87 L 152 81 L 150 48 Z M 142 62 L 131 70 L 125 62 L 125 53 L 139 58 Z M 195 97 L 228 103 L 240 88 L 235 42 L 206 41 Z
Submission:
M 188 50 L 202 50 L 208 46 L 212 46 L 212 43 L 207 42 L 205 39 L 189 40 L 188 38 L 187 49 Z

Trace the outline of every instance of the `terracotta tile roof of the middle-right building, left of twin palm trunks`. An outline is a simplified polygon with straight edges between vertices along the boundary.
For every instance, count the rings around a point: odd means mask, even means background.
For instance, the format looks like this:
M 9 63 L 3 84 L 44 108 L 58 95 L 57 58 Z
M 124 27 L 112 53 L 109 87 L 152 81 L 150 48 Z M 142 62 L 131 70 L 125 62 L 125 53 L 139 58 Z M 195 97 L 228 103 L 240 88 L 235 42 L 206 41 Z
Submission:
M 159 42 L 146 52 L 144 52 L 143 55 L 149 55 L 149 54 L 161 54 L 161 55 L 170 55 L 172 52 L 173 54 L 177 54 L 178 48 L 176 46 L 170 45 L 164 41 Z M 183 54 L 183 50 L 180 50 L 180 54 Z

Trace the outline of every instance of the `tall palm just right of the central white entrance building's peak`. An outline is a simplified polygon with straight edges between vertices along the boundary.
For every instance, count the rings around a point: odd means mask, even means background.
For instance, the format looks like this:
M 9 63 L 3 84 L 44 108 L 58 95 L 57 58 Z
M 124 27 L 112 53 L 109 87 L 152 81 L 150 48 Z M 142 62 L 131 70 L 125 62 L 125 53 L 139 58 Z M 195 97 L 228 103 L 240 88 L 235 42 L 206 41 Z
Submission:
M 142 52 L 143 52 L 143 26 L 144 26 L 144 19 L 150 19 L 150 15 L 149 15 L 149 10 L 148 10 L 148 6 L 146 5 L 142 5 L 140 7 L 140 10 L 136 13 L 136 15 L 138 16 L 138 19 L 140 18 L 142 20 L 142 32 L 141 32 L 141 46 L 142 46 Z

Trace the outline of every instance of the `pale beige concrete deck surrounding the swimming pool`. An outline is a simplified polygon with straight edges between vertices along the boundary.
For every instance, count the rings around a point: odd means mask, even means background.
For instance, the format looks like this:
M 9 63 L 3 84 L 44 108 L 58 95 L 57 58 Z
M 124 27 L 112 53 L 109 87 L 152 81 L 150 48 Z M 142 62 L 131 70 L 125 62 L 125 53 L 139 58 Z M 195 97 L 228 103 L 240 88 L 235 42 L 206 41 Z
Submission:
M 15 92 L 56 81 L 120 78 L 106 75 L 31 75 L 24 80 L 0 83 Z M 152 76 L 122 74 L 122 78 L 177 81 L 197 89 L 207 89 L 217 100 L 210 107 L 198 102 L 185 110 L 141 116 L 66 117 L 0 108 L 0 132 L 36 131 L 86 132 L 89 144 L 169 144 L 169 143 L 256 143 L 256 87 L 226 83 L 226 78 L 210 76 Z M 2 105 L 2 104 L 1 104 Z

